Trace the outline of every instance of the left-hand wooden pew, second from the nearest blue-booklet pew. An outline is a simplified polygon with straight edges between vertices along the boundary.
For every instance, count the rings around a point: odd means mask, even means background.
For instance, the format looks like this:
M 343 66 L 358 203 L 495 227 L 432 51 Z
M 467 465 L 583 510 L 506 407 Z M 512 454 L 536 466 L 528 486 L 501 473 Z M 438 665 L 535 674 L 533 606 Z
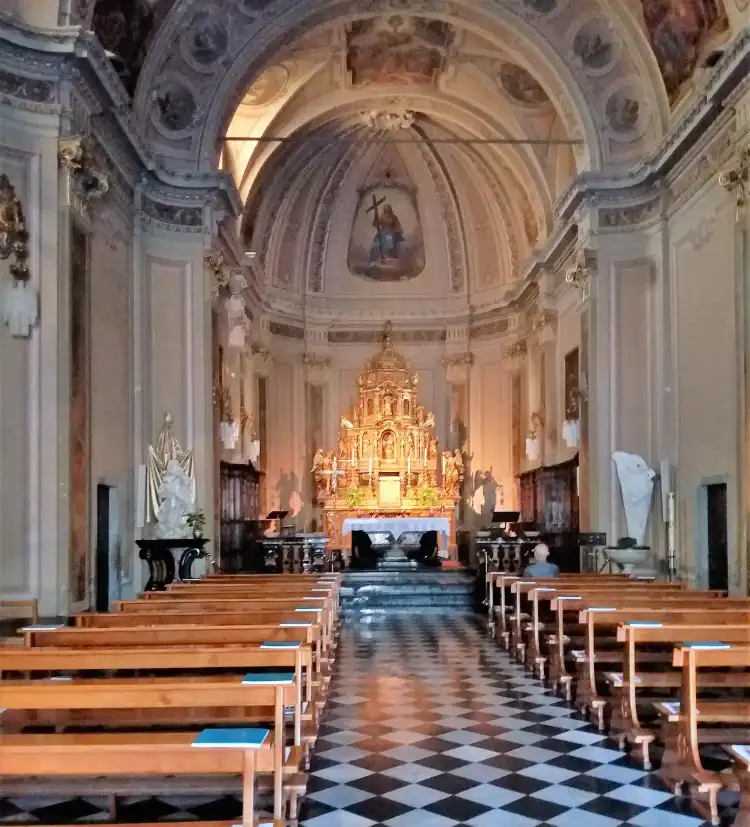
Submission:
M 291 675 L 289 680 L 275 680 L 273 683 L 270 683 L 271 678 L 268 680 L 267 684 L 249 685 L 238 676 L 1 681 L 0 709 L 5 710 L 3 726 L 6 726 L 8 717 L 13 720 L 13 711 L 29 716 L 32 721 L 41 719 L 42 722 L 48 720 L 44 713 L 50 715 L 57 712 L 52 716 L 52 720 L 58 720 L 62 726 L 70 725 L 70 716 L 67 716 L 66 712 L 80 711 L 76 722 L 80 721 L 86 726 L 101 723 L 110 727 L 118 722 L 125 726 L 164 722 L 174 725 L 186 718 L 188 726 L 195 726 L 196 723 L 202 722 L 203 715 L 211 718 L 219 708 L 268 710 L 274 722 L 271 739 L 274 818 L 280 819 L 283 810 L 282 784 L 285 765 L 296 772 L 302 758 L 301 750 L 298 748 L 292 751 L 287 762 L 284 758 L 284 707 L 297 703 L 298 687 L 295 686 Z M 128 715 L 130 711 L 135 714 Z M 39 714 L 32 716 L 31 713 Z M 24 737 L 35 736 L 19 736 Z M 19 771 L 16 774 L 27 773 Z M 102 771 L 97 774 L 106 773 Z M 129 771 L 128 774 L 133 773 Z

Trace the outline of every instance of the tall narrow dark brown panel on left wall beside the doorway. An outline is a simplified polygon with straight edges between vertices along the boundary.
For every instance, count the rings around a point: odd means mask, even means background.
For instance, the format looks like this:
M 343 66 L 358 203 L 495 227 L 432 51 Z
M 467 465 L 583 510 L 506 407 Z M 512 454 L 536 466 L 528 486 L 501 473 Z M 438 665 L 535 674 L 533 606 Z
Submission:
M 88 239 L 70 238 L 70 596 L 86 599 L 89 537 Z

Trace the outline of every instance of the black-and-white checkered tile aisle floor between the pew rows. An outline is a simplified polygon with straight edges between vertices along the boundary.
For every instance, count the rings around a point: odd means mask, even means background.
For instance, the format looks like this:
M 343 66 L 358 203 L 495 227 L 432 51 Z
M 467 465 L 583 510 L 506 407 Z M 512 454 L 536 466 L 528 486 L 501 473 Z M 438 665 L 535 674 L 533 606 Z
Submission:
M 696 827 L 478 618 L 347 620 L 304 827 Z

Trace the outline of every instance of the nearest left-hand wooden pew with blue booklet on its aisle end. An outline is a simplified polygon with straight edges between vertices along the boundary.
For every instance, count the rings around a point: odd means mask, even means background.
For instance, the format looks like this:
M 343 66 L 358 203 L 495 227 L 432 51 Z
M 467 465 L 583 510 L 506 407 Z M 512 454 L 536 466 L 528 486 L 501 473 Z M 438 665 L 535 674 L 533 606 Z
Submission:
M 257 825 L 255 773 L 274 771 L 272 734 L 266 730 L 254 749 L 199 749 L 196 738 L 195 732 L 0 735 L 0 777 L 240 775 L 242 825 Z M 272 823 L 283 827 L 281 819 Z

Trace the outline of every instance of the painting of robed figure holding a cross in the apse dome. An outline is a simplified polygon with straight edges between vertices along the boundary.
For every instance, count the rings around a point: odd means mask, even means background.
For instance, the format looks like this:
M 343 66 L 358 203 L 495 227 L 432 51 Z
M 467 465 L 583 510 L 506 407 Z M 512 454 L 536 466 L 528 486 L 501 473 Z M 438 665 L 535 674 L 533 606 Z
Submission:
M 424 270 L 422 225 L 408 187 L 372 187 L 361 192 L 348 265 L 352 273 L 373 281 L 413 279 Z

